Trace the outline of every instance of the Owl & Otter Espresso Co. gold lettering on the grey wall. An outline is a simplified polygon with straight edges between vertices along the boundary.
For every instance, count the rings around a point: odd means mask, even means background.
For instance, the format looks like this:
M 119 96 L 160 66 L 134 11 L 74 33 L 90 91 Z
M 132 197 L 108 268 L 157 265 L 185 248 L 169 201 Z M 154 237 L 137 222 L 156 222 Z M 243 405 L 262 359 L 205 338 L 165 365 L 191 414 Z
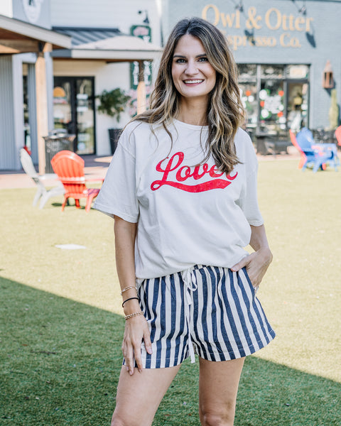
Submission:
M 215 6 L 207 4 L 202 9 L 202 18 L 215 26 L 220 26 L 222 33 L 229 28 L 244 29 L 244 35 L 227 34 L 227 39 L 233 50 L 252 45 L 259 48 L 301 48 L 301 43 L 295 32 L 310 33 L 313 18 L 282 13 L 276 7 L 271 7 L 264 14 L 259 14 L 256 7 L 251 6 L 245 11 L 236 10 L 234 13 L 224 13 Z M 226 28 L 226 29 L 224 29 Z M 281 31 L 279 36 L 256 35 L 255 31 L 268 28 L 270 31 Z

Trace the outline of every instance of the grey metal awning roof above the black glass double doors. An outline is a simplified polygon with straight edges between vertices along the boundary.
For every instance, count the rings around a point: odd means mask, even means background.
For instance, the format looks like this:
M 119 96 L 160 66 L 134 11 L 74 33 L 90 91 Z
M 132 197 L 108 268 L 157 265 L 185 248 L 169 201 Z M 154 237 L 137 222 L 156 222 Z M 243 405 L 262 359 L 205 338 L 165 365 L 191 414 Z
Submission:
M 53 51 L 53 58 L 133 62 L 156 60 L 161 48 L 139 37 L 125 35 L 117 28 L 53 28 L 72 38 L 72 48 Z

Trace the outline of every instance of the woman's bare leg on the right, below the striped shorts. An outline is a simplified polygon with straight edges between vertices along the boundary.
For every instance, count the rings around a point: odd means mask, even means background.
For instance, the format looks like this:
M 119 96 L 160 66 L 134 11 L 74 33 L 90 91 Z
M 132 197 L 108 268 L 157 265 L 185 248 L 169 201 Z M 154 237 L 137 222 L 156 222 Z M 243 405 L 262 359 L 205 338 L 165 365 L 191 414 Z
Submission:
M 245 358 L 200 358 L 199 415 L 202 426 L 233 426 L 239 378 Z

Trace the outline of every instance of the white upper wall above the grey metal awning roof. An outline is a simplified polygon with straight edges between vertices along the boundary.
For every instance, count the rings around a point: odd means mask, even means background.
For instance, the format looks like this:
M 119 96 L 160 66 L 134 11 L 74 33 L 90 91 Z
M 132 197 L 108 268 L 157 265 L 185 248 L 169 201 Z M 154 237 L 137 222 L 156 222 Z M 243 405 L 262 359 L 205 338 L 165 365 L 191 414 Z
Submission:
M 141 24 L 148 11 L 153 43 L 160 45 L 160 0 L 51 0 L 53 26 L 119 28 L 129 34 L 132 25 Z

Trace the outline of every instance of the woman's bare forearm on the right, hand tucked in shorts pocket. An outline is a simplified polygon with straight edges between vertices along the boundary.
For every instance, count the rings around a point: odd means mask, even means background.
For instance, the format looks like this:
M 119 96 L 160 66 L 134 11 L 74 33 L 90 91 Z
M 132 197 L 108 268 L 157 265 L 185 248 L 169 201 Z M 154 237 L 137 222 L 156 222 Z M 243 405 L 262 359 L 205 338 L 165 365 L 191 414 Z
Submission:
M 272 253 L 266 239 L 264 225 L 251 225 L 250 246 L 254 249 L 254 253 L 242 258 L 242 261 L 232 266 L 231 271 L 239 271 L 245 266 L 252 285 L 254 288 L 258 288 L 272 261 Z

